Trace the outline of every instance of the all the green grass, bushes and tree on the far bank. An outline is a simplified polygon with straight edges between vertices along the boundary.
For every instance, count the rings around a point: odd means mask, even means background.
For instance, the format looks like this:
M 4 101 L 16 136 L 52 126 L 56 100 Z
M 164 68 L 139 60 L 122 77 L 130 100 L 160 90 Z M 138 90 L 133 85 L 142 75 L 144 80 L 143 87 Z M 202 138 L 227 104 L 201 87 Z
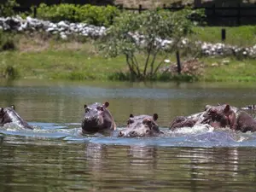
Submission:
M 4 16 L 13 15 L 14 0 L 1 7 Z M 4 9 L 4 11 L 3 11 Z M 185 67 L 182 75 L 173 73 L 176 65 L 173 50 L 180 50 L 183 67 L 188 57 L 199 55 L 200 50 L 191 44 L 180 49 L 181 38 L 187 36 L 193 41 L 220 42 L 222 27 L 194 26 L 191 19 L 203 18 L 201 10 L 184 9 L 180 12 L 163 10 L 144 11 L 142 14 L 123 12 L 118 9 L 91 5 L 76 6 L 60 4 L 38 8 L 38 17 L 45 20 L 84 21 L 93 25 L 110 26 L 108 35 L 100 39 L 99 47 L 88 38 L 69 37 L 61 40 L 46 33 L 15 34 L 0 33 L 0 78 L 39 79 L 102 79 L 102 80 L 161 80 L 161 81 L 256 81 L 256 63 L 246 58 L 199 58 L 203 63 L 200 73 Z M 113 25 L 111 25 L 113 23 Z M 226 44 L 241 47 L 256 44 L 256 26 L 225 27 Z M 137 35 L 137 40 L 133 35 Z M 142 38 L 143 37 L 143 38 Z M 160 41 L 171 39 L 173 46 L 160 49 Z M 97 43 L 99 43 L 97 42 Z M 147 43 L 146 43 L 147 42 Z M 99 49 L 100 48 L 100 49 Z M 110 57 L 105 57 L 101 50 Z M 170 67 L 170 63 L 174 63 Z M 228 64 L 222 64 L 223 60 Z M 213 65 L 214 64 L 214 65 Z M 196 65 L 196 64 L 195 64 Z M 162 67 L 170 67 L 172 73 Z M 55 68 L 55 70 L 50 70 Z M 203 71 L 203 73 L 201 73 Z

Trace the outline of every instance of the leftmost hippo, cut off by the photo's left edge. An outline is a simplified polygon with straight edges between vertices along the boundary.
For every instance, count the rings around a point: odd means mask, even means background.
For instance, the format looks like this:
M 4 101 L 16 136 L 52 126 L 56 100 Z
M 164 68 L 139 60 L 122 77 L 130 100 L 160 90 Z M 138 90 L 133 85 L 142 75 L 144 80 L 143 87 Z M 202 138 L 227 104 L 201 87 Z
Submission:
M 28 125 L 28 123 L 16 113 L 15 105 L 12 105 L 10 108 L 0 108 L 0 126 L 8 123 L 14 123 L 20 128 L 33 130 L 32 126 Z

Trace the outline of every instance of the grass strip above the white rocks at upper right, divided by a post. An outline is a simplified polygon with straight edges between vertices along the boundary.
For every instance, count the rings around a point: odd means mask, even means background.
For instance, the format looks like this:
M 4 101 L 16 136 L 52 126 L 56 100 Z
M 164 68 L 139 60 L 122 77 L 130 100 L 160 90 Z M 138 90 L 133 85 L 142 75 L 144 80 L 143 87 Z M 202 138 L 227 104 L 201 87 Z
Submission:
M 238 46 L 253 46 L 256 44 L 256 26 L 196 26 L 193 28 L 193 34 L 189 38 L 201 40 L 211 43 L 219 43 L 221 41 L 221 29 L 226 29 L 225 44 Z

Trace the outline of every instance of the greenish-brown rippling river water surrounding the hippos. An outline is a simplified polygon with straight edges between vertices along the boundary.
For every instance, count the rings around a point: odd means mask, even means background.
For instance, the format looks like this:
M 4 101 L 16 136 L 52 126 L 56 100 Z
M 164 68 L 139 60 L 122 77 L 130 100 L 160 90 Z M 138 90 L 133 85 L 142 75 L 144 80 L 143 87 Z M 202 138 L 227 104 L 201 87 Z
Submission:
M 256 133 L 197 126 L 168 131 L 206 104 L 255 103 L 253 84 L 0 82 L 0 107 L 15 104 L 34 131 L 0 130 L 0 191 L 254 191 Z M 84 103 L 110 103 L 118 125 L 158 113 L 164 137 L 80 137 Z M 252 115 L 255 114 L 252 112 Z

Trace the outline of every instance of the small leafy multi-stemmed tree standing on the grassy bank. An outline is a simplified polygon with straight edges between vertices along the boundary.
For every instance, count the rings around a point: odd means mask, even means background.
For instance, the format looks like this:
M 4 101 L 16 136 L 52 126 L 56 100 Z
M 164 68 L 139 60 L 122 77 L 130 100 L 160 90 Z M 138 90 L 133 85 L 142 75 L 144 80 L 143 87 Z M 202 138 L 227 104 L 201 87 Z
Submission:
M 101 39 L 100 48 L 111 57 L 125 55 L 132 78 L 154 79 L 166 57 L 177 49 L 181 38 L 191 32 L 193 23 L 188 19 L 189 13 L 189 9 L 123 13 Z M 163 45 L 163 40 L 172 44 Z M 137 55 L 146 55 L 145 60 L 138 61 Z

